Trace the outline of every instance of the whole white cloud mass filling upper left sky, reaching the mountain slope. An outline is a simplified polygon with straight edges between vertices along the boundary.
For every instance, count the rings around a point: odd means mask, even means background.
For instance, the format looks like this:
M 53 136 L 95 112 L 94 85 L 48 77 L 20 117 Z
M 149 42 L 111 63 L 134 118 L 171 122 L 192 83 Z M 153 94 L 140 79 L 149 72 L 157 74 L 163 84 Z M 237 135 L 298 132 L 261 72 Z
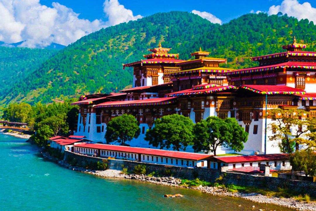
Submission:
M 47 7 L 40 0 L 0 0 L 0 40 L 27 40 L 21 47 L 45 47 L 52 42 L 68 45 L 101 28 L 142 18 L 133 16 L 118 0 L 106 0 L 103 6 L 108 21 L 91 22 L 57 2 Z

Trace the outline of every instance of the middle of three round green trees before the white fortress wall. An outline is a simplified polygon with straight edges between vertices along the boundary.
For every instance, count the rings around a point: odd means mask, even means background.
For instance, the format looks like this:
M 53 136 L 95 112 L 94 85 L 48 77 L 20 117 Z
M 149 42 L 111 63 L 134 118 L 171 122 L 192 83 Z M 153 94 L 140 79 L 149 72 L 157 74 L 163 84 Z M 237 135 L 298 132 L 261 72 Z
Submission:
M 193 122 L 189 117 L 173 114 L 161 117 L 154 121 L 155 127 L 147 130 L 145 140 L 149 144 L 167 149 L 172 146 L 173 150 L 185 150 L 192 144 Z

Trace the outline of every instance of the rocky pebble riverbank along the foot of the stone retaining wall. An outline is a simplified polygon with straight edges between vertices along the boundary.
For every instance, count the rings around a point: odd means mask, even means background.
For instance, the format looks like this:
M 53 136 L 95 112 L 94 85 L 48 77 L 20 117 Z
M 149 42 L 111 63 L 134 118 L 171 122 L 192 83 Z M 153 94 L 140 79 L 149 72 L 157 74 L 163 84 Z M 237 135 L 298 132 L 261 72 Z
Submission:
M 232 193 L 228 191 L 227 188 L 222 187 L 209 187 L 209 186 L 199 186 L 199 187 L 187 187 L 181 185 L 181 179 L 175 177 L 149 177 L 147 175 L 136 175 L 136 174 L 125 174 L 120 170 L 112 170 L 108 169 L 105 171 L 94 171 L 88 170 L 78 166 L 71 166 L 64 160 L 58 160 L 57 158 L 53 158 L 48 153 L 41 152 L 41 154 L 68 169 L 72 169 L 74 171 L 81 171 L 88 174 L 93 174 L 99 177 L 114 177 L 114 178 L 124 178 L 124 179 L 134 179 L 143 182 L 155 183 L 159 185 L 167 185 L 167 186 L 175 186 L 181 188 L 189 188 L 200 190 L 204 193 L 217 195 L 217 196 L 231 196 L 231 197 L 240 197 L 246 200 L 250 200 L 252 202 L 258 203 L 268 203 L 275 204 L 283 207 L 294 208 L 298 210 L 306 210 L 306 211 L 316 211 L 316 203 L 315 202 L 299 202 L 295 198 L 278 198 L 278 197 L 268 197 L 265 195 L 257 194 L 257 193 L 240 193 L 235 192 Z M 255 210 L 255 207 L 253 207 Z

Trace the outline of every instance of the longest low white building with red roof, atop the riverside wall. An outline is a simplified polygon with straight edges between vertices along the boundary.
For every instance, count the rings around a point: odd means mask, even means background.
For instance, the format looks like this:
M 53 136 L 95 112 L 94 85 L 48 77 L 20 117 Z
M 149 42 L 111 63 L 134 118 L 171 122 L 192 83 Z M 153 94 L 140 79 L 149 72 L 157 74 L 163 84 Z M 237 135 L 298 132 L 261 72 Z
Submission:
M 178 152 L 130 146 L 80 143 L 73 152 L 101 158 L 116 158 L 144 163 L 174 165 L 182 167 L 207 167 L 213 156 L 201 153 Z

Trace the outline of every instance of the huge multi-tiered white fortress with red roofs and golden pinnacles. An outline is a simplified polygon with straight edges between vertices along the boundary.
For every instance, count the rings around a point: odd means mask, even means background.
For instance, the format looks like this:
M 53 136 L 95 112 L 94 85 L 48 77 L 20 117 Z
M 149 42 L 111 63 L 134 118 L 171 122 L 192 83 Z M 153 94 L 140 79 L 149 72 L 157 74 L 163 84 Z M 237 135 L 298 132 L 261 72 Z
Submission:
M 248 133 L 240 153 L 280 153 L 279 140 L 269 140 L 274 131 L 267 129 L 265 138 L 265 125 L 273 123 L 265 119 L 266 108 L 304 109 L 306 117 L 316 117 L 316 52 L 304 48 L 294 39 L 283 46 L 286 52 L 253 57 L 258 65 L 235 70 L 224 66 L 227 59 L 209 57 L 201 47 L 191 53 L 195 58 L 183 61 L 160 44 L 144 59 L 123 65 L 133 67 L 131 87 L 118 94 L 81 96 L 72 103 L 80 107 L 74 135 L 105 143 L 108 122 L 129 114 L 139 122 L 141 134 L 127 144 L 152 148 L 144 139 L 146 131 L 164 115 L 184 115 L 193 123 L 209 116 L 231 117 Z M 216 153 L 234 150 L 218 147 Z

